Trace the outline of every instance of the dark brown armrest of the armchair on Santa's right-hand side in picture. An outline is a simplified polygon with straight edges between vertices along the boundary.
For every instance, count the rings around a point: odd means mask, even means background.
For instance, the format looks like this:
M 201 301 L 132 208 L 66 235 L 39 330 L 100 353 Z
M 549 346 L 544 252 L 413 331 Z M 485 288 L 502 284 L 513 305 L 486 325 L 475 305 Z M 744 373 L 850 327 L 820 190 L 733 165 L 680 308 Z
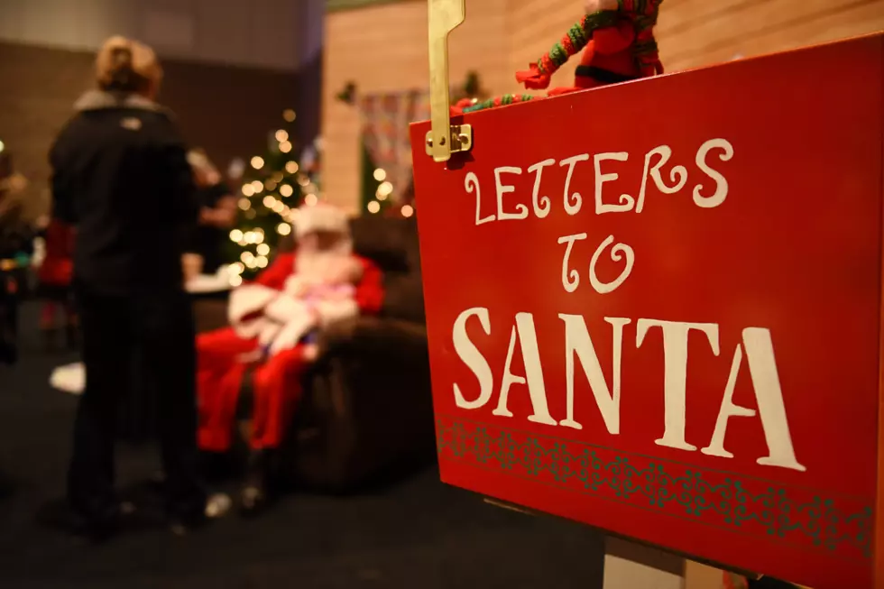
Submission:
M 347 492 L 435 456 L 426 327 L 355 318 L 318 345 L 294 428 L 300 483 Z

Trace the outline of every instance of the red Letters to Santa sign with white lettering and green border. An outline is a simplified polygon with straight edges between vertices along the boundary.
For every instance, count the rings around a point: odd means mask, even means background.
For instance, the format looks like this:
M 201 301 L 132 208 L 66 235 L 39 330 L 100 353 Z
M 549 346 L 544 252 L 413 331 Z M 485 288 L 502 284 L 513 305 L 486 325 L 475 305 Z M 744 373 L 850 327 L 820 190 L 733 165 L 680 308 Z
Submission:
M 442 163 L 413 125 L 442 479 L 872 587 L 882 66 L 872 35 L 481 111 Z

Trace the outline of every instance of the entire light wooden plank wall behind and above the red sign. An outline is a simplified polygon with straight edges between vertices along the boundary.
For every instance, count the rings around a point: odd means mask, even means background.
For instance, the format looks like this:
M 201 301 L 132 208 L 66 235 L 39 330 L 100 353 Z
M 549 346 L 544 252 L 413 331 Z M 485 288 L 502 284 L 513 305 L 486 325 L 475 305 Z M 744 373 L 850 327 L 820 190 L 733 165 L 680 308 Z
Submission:
M 494 94 L 520 92 L 525 69 L 579 19 L 581 0 L 467 0 L 451 39 L 451 77 L 475 69 Z M 884 0 L 665 0 L 657 37 L 668 71 L 720 63 L 884 30 Z M 327 196 L 355 210 L 359 119 L 336 103 L 347 80 L 360 90 L 425 87 L 427 7 L 423 0 L 327 15 L 323 94 Z M 576 60 L 557 74 L 566 85 Z

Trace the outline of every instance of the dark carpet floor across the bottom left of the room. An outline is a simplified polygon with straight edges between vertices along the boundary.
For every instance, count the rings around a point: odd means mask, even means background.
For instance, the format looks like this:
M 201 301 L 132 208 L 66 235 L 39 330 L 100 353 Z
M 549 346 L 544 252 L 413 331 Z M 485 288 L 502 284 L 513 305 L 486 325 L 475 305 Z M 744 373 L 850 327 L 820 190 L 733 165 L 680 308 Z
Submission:
M 42 527 L 63 492 L 77 397 L 49 386 L 74 354 L 41 351 L 23 308 L 23 357 L 0 366 L 0 587 L 4 589 L 601 589 L 603 539 L 438 481 L 435 467 L 347 498 L 293 493 L 258 519 L 235 514 L 179 538 L 144 529 L 92 546 Z M 121 447 L 121 487 L 158 468 Z

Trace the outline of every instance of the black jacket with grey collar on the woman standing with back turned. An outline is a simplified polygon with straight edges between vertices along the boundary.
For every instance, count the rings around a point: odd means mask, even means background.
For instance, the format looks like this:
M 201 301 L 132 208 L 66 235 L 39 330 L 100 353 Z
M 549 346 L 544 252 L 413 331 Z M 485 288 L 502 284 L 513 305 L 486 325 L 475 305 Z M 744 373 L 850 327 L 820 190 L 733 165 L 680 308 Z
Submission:
M 106 295 L 180 290 L 199 205 L 170 113 L 97 90 L 75 108 L 50 152 L 53 215 L 77 229 L 75 281 Z

